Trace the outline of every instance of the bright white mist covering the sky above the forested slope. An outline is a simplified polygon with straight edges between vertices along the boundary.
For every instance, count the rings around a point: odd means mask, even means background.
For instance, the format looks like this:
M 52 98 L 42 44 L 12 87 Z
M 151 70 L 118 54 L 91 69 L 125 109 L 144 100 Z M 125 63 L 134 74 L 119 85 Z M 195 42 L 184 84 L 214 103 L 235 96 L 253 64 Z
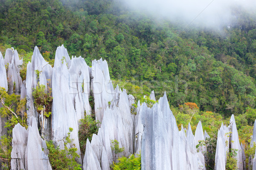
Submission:
M 183 20 L 187 24 L 220 26 L 234 17 L 231 8 L 239 6 L 246 11 L 256 10 L 256 0 L 123 0 L 134 9 L 148 11 L 157 17 Z

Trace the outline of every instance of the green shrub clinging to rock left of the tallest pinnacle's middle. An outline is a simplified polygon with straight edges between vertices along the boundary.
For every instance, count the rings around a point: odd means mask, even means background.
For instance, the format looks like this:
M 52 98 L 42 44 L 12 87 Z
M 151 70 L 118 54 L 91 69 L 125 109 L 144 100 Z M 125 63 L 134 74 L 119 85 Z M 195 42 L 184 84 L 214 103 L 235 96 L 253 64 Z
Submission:
M 32 95 L 35 99 L 35 106 L 38 113 L 44 110 L 44 116 L 47 118 L 52 114 L 52 96 L 51 89 L 48 87 L 47 93 L 45 93 L 45 85 L 38 85 L 36 88 L 33 88 Z

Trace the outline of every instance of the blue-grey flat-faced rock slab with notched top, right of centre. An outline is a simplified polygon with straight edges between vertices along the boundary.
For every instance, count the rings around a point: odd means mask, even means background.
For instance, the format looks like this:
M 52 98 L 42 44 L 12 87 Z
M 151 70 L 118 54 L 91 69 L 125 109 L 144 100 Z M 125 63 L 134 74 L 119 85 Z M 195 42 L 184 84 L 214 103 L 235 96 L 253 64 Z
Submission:
M 152 108 L 148 108 L 143 103 L 140 111 L 144 126 L 141 147 L 141 169 L 170 170 L 172 164 L 169 152 L 169 136 L 167 135 L 168 119 L 165 119 L 160 105 L 157 103 Z

